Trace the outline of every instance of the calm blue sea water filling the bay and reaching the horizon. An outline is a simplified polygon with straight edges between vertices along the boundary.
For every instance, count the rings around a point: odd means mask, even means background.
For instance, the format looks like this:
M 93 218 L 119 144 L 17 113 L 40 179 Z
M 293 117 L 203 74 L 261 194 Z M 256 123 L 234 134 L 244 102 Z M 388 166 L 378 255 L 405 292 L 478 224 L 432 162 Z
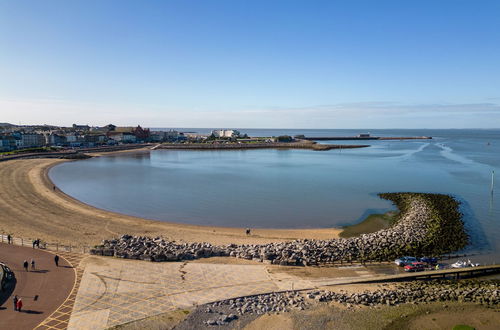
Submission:
M 209 129 L 184 129 L 208 132 Z M 500 130 L 256 130 L 432 136 L 363 141 L 352 150 L 157 150 L 64 163 L 50 171 L 67 194 L 110 211 L 189 224 L 310 228 L 361 221 L 392 205 L 379 192 L 436 192 L 462 201 L 472 248 L 500 251 Z M 327 143 L 339 143 L 331 141 Z M 345 141 L 342 143 L 357 143 Z

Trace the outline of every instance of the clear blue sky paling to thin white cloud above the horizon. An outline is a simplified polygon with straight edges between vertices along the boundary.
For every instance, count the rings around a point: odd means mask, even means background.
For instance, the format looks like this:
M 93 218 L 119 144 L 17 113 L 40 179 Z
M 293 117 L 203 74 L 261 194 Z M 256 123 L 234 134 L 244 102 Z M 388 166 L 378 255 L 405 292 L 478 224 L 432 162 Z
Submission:
M 0 122 L 500 128 L 500 1 L 0 0 Z

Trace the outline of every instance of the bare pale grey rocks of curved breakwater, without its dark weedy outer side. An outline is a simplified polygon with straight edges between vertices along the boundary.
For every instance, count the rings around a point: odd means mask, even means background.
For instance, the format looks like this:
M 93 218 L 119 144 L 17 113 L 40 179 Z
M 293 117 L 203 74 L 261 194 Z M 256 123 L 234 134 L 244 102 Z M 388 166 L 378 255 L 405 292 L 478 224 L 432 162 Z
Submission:
M 279 265 L 317 265 L 328 262 L 385 259 L 388 251 L 417 245 L 426 239 L 430 213 L 422 200 L 414 200 L 409 211 L 392 228 L 359 237 L 332 240 L 297 240 L 262 245 L 214 246 L 181 243 L 161 237 L 123 235 L 104 240 L 92 254 L 151 261 L 179 261 L 213 256 L 256 259 Z

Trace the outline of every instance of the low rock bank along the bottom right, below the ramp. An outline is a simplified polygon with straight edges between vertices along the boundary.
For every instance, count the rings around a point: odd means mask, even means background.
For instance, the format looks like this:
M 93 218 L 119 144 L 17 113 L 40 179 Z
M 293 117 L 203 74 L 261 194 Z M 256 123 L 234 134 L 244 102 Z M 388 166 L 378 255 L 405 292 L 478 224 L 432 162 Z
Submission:
M 274 292 L 217 301 L 200 306 L 200 311 L 206 314 L 204 325 L 220 326 L 246 315 L 305 310 L 315 304 L 329 302 L 340 303 L 347 308 L 435 302 L 466 302 L 493 307 L 500 303 L 500 281 L 416 281 L 357 293 L 342 290 Z

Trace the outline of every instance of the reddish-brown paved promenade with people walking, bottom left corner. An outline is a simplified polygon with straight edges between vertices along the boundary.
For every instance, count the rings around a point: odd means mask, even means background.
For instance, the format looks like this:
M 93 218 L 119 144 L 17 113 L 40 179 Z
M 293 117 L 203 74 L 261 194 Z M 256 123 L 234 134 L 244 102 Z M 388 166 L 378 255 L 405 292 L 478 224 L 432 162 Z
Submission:
M 26 272 L 23 261 L 35 260 L 36 269 Z M 33 329 L 54 312 L 71 292 L 75 272 L 63 258 L 60 267 L 54 264 L 52 253 L 0 243 L 0 261 L 5 262 L 16 277 L 13 292 L 0 296 L 0 329 Z M 14 311 L 13 295 L 22 298 L 23 312 Z M 35 297 L 37 299 L 35 300 Z

